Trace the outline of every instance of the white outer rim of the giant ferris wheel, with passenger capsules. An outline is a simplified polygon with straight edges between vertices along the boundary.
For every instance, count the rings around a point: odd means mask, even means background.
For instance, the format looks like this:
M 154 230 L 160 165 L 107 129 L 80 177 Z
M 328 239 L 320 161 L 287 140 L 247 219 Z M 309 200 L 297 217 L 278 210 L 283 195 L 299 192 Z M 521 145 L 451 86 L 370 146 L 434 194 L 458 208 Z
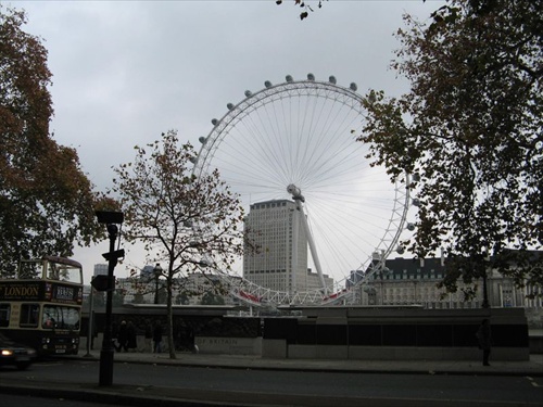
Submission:
M 213 161 L 215 152 L 218 150 L 222 140 L 228 136 L 229 131 L 236 127 L 243 117 L 248 116 L 251 112 L 257 110 L 258 107 L 273 103 L 277 100 L 283 98 L 292 97 L 292 92 L 298 92 L 293 96 L 306 96 L 306 97 L 320 97 L 326 98 L 336 102 L 340 102 L 343 105 L 350 106 L 352 110 L 357 111 L 358 114 L 363 115 L 362 101 L 363 97 L 356 92 L 356 86 L 351 84 L 350 88 L 337 85 L 332 81 L 333 77 L 330 77 L 329 81 L 316 80 L 308 75 L 307 79 L 293 80 L 287 76 L 287 81 L 277 85 L 270 85 L 268 81 L 265 82 L 265 88 L 257 92 L 245 91 L 245 98 L 242 99 L 238 104 L 228 104 L 227 112 L 220 117 L 220 119 L 213 119 L 213 128 L 207 133 L 205 138 L 200 138 L 202 142 L 201 149 L 198 156 L 194 160 L 194 166 L 192 174 L 195 177 L 201 177 L 210 168 Z M 311 93 L 313 91 L 314 93 Z M 349 102 L 349 103 L 348 103 Z M 203 140 L 202 140 L 203 139 Z M 408 175 L 406 175 L 406 178 Z M 363 270 L 363 267 L 367 267 L 363 271 L 366 274 L 364 279 L 359 281 L 352 282 L 349 290 L 342 290 L 341 292 L 333 293 L 330 296 L 324 297 L 321 290 L 308 290 L 305 292 L 296 292 L 294 294 L 272 290 L 261 287 L 245 278 L 233 277 L 223 270 L 217 270 L 218 275 L 226 278 L 232 287 L 232 293 L 239 298 L 253 303 L 254 305 L 262 305 L 262 301 L 268 303 L 277 304 L 299 304 L 299 303 L 327 303 L 336 302 L 351 293 L 355 288 L 367 282 L 367 277 L 375 274 L 378 269 L 384 266 L 384 260 L 390 255 L 392 251 L 396 247 L 396 243 L 400 239 L 400 234 L 406 224 L 406 214 L 409 206 L 409 188 L 408 183 L 404 186 L 404 189 L 397 188 L 395 186 L 394 195 L 394 206 L 393 214 L 396 216 L 391 216 L 389 225 L 386 228 L 387 232 L 380 239 L 376 251 L 381 250 L 381 257 L 378 260 L 371 258 L 366 259 L 366 262 L 361 262 L 359 267 L 356 269 Z M 384 242 L 389 243 L 386 244 Z M 346 280 L 346 278 L 344 279 Z

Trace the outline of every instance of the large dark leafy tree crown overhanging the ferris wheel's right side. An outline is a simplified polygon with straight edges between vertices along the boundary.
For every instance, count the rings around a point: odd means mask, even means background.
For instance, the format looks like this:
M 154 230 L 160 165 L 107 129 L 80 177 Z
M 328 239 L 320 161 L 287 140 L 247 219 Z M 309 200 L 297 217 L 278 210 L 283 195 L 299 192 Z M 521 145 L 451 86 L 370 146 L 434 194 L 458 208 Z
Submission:
M 370 91 L 361 141 L 420 202 L 409 249 L 455 258 L 444 280 L 496 267 L 541 284 L 543 21 L 530 0 L 452 0 L 428 24 L 406 15 L 392 67 L 411 91 Z M 414 178 L 417 180 L 418 178 Z

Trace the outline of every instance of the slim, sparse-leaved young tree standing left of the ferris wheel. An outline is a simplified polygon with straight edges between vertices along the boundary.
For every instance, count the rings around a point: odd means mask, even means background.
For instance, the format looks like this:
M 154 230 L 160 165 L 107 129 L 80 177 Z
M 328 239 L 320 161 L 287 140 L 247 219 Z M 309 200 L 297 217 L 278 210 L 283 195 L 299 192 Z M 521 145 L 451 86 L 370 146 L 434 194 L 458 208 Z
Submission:
M 217 170 L 195 178 L 191 144 L 178 145 L 176 131 L 136 147 L 134 163 L 115 168 L 113 192 L 125 213 L 124 236 L 142 242 L 149 264 L 160 263 L 167 292 L 171 357 L 175 358 L 173 287 L 182 274 L 228 270 L 243 249 L 243 208 Z M 148 150 L 150 151 L 148 153 Z

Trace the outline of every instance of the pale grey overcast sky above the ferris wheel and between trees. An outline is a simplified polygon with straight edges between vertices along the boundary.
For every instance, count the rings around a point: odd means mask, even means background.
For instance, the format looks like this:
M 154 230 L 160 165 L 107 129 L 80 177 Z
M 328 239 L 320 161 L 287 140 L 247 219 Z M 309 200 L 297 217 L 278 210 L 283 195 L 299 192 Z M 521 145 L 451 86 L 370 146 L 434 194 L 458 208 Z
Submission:
M 425 21 L 442 2 L 330 0 L 304 21 L 292 0 L 280 7 L 275 0 L 3 4 L 25 9 L 25 29 L 45 40 L 53 74 L 51 131 L 77 149 L 83 169 L 103 190 L 111 167 L 134 158 L 134 145 L 168 129 L 198 145 L 228 102 L 265 80 L 334 75 L 338 84 L 356 82 L 361 93 L 401 94 L 407 84 L 389 68 L 399 48 L 393 34 L 404 13 Z M 88 276 L 106 251 L 104 242 L 78 249 L 74 258 Z M 127 263 L 141 260 L 129 253 Z M 125 267 L 116 275 L 125 277 Z

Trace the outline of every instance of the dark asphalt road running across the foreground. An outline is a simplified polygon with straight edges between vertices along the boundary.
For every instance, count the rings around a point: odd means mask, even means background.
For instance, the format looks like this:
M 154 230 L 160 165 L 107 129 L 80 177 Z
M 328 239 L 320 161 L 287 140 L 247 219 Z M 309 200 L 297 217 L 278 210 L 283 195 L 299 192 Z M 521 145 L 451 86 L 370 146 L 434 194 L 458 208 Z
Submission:
M 96 360 L 66 359 L 36 364 L 28 371 L 0 370 L 3 385 L 42 389 L 56 383 L 49 389 L 62 384 L 62 389 L 81 393 L 122 393 L 140 400 L 207 399 L 261 406 L 541 406 L 543 400 L 543 378 L 521 376 L 300 372 L 116 363 L 112 389 L 98 387 L 98 378 Z

